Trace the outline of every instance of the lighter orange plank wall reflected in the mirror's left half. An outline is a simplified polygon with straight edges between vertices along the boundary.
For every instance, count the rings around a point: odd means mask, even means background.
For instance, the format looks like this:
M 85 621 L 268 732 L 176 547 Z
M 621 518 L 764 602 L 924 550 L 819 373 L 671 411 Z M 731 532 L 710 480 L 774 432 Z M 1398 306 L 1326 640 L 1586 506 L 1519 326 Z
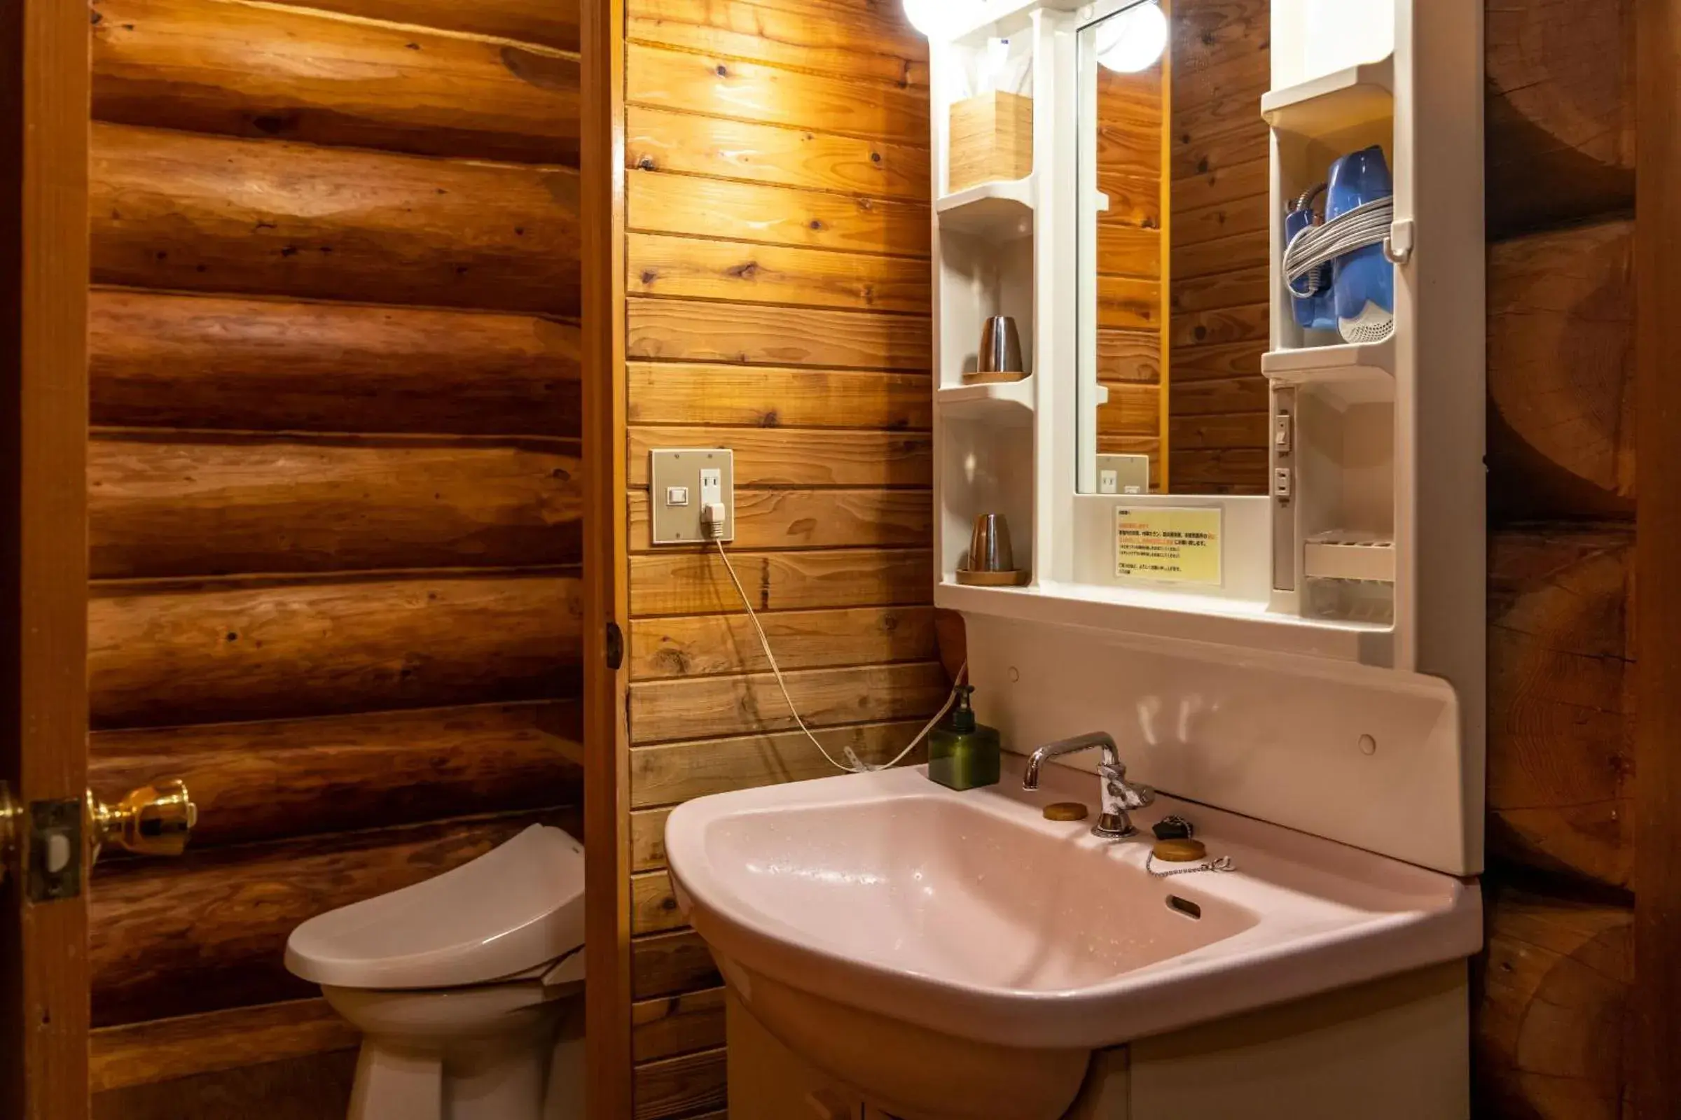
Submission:
M 1167 220 L 1162 178 L 1167 149 L 1167 67 L 1138 74 L 1098 67 L 1098 383 L 1109 403 L 1098 410 L 1099 455 L 1148 455 L 1150 489 L 1162 490 Z

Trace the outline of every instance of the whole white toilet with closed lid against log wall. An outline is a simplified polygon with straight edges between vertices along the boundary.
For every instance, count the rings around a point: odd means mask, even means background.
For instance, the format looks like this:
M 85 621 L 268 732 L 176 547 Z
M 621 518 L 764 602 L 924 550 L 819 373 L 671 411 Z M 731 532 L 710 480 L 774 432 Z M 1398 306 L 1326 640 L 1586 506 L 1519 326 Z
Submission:
M 583 848 L 561 830 L 309 919 L 286 967 L 363 1033 L 350 1120 L 583 1118 Z

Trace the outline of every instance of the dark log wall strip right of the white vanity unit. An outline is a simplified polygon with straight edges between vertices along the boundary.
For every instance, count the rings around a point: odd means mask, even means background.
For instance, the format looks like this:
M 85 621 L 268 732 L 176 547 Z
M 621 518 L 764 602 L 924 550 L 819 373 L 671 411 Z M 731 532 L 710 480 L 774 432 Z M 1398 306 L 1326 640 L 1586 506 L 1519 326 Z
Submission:
M 1488 5 L 1476 1115 L 1617 1120 L 1634 974 L 1632 3 Z

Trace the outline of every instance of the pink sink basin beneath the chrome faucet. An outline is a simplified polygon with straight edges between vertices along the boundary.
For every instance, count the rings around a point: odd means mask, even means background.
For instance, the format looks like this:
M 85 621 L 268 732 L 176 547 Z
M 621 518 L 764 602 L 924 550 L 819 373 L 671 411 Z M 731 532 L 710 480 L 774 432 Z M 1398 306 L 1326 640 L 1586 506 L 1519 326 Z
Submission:
M 906 1120 L 1059 1117 L 1093 1049 L 1410 969 L 1481 944 L 1474 887 L 1162 798 L 1230 873 L 1157 878 L 1148 845 L 1046 821 L 1096 777 L 1020 759 L 983 791 L 921 767 L 691 801 L 677 900 L 745 1006 Z M 1173 865 L 1157 863 L 1157 870 Z

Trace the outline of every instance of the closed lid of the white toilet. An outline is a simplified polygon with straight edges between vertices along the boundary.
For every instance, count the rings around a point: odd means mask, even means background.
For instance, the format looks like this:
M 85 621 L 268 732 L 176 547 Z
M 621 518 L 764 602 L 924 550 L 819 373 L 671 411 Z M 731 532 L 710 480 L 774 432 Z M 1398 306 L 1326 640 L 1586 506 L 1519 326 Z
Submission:
M 583 846 L 533 824 L 424 883 L 309 919 L 286 967 L 331 987 L 461 987 L 583 945 Z

